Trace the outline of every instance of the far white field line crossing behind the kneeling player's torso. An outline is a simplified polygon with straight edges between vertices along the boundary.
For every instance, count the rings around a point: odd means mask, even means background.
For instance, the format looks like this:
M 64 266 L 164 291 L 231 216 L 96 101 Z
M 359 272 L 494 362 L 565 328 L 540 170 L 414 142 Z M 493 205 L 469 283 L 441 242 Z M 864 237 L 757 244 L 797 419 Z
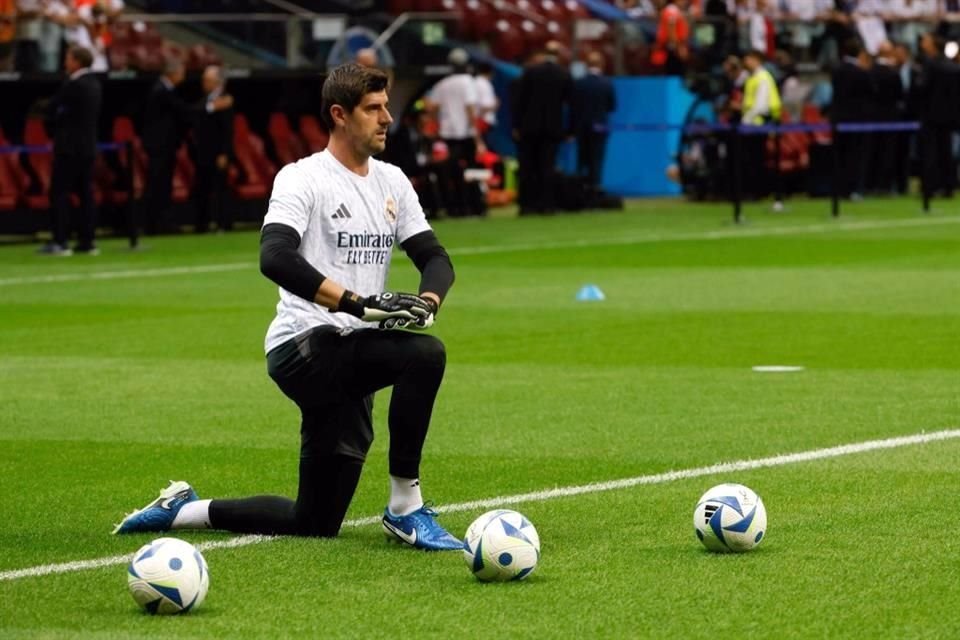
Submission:
M 568 240 L 562 242 L 539 242 L 502 244 L 479 247 L 461 247 L 450 249 L 452 256 L 475 256 L 497 253 L 539 251 L 544 249 L 577 249 L 582 247 L 608 247 L 631 244 L 650 244 L 657 242 L 682 242 L 691 240 L 725 240 L 731 238 L 762 238 L 805 233 L 828 233 L 830 231 L 870 231 L 875 229 L 900 229 L 909 227 L 927 227 L 960 224 L 960 216 L 949 218 L 909 218 L 905 220 L 874 220 L 862 222 L 830 222 L 789 227 L 758 227 L 718 229 L 716 231 L 694 231 L 675 234 L 625 235 L 616 238 L 596 238 Z M 60 273 L 46 276 L 22 276 L 18 278 L 0 278 L 0 287 L 23 284 L 46 284 L 54 282 L 82 282 L 86 280 L 117 280 L 123 278 L 157 278 L 163 276 L 188 275 L 194 273 L 220 273 L 224 271 L 243 271 L 257 268 L 254 262 L 229 262 L 224 264 L 197 265 L 191 267 L 158 267 L 155 269 L 128 269 L 117 271 L 92 271 Z

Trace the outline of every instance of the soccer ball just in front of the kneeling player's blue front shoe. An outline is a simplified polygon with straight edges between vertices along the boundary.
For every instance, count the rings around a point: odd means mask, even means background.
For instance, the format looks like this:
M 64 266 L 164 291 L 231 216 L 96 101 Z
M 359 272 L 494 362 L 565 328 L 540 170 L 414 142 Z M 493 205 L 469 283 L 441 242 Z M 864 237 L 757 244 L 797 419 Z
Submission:
M 540 536 L 516 511 L 488 511 L 467 529 L 463 559 L 482 582 L 523 580 L 540 561 Z

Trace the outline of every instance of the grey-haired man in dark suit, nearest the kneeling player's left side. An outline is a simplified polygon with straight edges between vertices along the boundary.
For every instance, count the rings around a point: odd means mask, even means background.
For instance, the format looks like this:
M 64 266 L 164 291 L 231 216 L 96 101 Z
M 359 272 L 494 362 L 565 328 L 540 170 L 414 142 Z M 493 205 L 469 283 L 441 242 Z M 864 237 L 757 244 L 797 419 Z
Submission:
M 211 219 L 216 221 L 221 231 L 229 231 L 233 227 L 233 216 L 223 201 L 227 189 L 227 169 L 233 156 L 233 108 L 214 108 L 217 99 L 226 95 L 225 87 L 222 67 L 211 65 L 204 69 L 203 92 L 206 98 L 193 129 L 197 152 L 197 179 L 193 187 L 197 233 L 206 233 Z

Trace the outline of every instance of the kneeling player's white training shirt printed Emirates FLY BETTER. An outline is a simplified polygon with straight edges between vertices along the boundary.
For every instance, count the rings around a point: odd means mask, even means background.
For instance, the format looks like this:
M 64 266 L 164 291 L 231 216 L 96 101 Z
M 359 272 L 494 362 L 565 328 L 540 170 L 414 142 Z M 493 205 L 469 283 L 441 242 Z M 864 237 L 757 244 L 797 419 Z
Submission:
M 430 230 L 413 186 L 398 167 L 371 158 L 369 172 L 359 176 L 329 151 L 288 164 L 277 174 L 263 219 L 264 226 L 276 223 L 296 229 L 298 252 L 317 271 L 361 296 L 384 290 L 395 245 Z M 269 352 L 321 325 L 376 326 L 281 287 L 264 346 Z

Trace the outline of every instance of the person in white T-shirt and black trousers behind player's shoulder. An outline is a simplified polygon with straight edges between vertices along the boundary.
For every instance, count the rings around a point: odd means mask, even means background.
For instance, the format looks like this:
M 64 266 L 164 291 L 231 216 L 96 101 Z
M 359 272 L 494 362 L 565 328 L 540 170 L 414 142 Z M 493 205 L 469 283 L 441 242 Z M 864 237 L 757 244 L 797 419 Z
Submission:
M 446 163 L 441 192 L 447 213 L 453 217 L 484 213 L 475 184 L 464 180 L 464 171 L 475 162 L 477 153 L 477 85 L 467 70 L 470 57 L 463 49 L 447 56 L 453 73 L 438 82 L 426 97 L 427 107 L 440 120 L 440 138 L 446 143 Z

